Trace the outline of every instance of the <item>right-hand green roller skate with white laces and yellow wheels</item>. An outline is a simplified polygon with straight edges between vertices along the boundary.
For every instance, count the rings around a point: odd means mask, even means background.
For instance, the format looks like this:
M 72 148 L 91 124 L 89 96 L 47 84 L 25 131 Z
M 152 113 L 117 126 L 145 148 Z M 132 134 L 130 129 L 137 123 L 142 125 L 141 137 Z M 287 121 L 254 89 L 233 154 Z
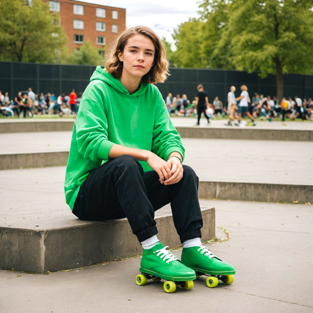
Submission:
M 224 284 L 233 283 L 233 274 L 235 274 L 233 266 L 218 259 L 205 246 L 183 248 L 181 259 L 182 264 L 193 269 L 197 276 L 208 276 L 207 286 L 210 288 L 216 287 L 218 280 L 222 280 Z

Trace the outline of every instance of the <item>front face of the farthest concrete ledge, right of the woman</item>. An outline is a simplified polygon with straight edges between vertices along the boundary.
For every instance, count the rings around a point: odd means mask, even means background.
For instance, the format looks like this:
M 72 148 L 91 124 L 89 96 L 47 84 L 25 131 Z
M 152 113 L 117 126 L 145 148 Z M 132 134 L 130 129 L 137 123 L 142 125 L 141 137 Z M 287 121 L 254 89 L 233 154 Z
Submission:
M 226 126 L 225 126 L 226 127 Z M 260 128 L 212 128 L 212 127 L 176 127 L 182 138 L 205 139 L 251 139 L 251 140 L 293 140 L 312 141 L 313 131 L 310 130 L 277 130 Z

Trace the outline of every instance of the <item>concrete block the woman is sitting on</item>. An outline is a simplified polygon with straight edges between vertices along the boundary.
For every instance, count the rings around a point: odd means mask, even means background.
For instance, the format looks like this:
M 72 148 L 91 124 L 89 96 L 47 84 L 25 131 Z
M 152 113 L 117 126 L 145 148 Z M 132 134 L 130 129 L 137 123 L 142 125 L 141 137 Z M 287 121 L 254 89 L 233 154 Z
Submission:
M 215 210 L 201 209 L 205 241 L 215 235 Z M 142 253 L 126 218 L 87 222 L 75 218 L 70 211 L 56 210 L 48 216 L 35 213 L 25 218 L 9 216 L 4 221 L 0 225 L 2 269 L 44 273 Z M 180 244 L 170 213 L 156 216 L 156 223 L 161 242 L 170 247 Z

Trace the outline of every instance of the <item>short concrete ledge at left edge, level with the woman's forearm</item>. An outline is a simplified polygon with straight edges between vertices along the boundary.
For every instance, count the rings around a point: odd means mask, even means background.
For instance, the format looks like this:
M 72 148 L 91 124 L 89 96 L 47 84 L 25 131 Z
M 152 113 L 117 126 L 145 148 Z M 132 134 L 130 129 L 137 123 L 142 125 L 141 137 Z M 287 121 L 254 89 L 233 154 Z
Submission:
M 69 151 L 0 154 L 0 170 L 66 165 Z

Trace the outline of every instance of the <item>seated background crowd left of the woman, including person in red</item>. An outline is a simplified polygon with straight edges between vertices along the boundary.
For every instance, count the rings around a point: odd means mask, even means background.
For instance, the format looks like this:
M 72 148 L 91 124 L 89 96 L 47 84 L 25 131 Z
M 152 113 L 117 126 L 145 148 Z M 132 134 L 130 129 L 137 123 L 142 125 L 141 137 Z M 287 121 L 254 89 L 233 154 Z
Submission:
M 4 117 L 33 117 L 36 115 L 76 115 L 82 93 L 75 93 L 73 89 L 69 95 L 64 93 L 56 96 L 53 93 L 35 94 L 32 88 L 18 91 L 17 95 L 10 99 L 8 92 L 4 95 L 0 90 L 0 115 Z

